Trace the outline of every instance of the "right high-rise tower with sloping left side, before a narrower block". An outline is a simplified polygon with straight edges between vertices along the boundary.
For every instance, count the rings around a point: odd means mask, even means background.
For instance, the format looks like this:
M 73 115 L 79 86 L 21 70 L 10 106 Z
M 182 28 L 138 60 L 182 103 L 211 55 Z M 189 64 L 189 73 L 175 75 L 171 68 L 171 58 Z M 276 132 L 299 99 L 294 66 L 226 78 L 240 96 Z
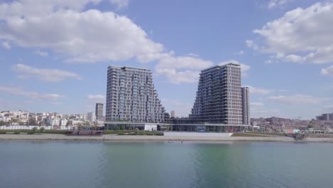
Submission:
M 240 65 L 228 63 L 200 73 L 190 117 L 198 122 L 242 125 Z

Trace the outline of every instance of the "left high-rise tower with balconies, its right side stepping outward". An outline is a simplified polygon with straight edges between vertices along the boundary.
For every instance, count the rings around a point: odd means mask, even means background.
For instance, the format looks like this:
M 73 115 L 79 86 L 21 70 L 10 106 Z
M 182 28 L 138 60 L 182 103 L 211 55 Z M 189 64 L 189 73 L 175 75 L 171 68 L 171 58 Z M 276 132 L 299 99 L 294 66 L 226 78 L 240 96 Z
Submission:
M 107 122 L 164 121 L 164 108 L 149 69 L 109 66 L 106 100 Z

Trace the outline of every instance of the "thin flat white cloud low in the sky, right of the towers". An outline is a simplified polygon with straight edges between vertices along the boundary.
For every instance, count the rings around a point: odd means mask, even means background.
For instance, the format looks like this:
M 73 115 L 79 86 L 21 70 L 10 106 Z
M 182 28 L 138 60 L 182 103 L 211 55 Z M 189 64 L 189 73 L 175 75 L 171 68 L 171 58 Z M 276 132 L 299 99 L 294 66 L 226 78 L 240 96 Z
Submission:
M 277 96 L 271 96 L 268 98 L 268 101 L 273 103 L 282 103 L 282 104 L 312 104 L 317 105 L 319 103 L 322 103 L 326 100 L 329 100 L 329 98 L 315 98 L 311 95 L 302 95 L 302 94 L 295 94 L 295 95 L 277 95 Z

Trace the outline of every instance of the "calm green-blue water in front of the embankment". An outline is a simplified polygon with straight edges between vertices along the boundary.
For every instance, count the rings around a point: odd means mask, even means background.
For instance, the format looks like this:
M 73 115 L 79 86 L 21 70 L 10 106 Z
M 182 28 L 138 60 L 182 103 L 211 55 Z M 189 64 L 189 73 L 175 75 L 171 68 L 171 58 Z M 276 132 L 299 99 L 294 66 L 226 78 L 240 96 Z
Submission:
M 333 187 L 333 144 L 5 141 L 0 187 Z

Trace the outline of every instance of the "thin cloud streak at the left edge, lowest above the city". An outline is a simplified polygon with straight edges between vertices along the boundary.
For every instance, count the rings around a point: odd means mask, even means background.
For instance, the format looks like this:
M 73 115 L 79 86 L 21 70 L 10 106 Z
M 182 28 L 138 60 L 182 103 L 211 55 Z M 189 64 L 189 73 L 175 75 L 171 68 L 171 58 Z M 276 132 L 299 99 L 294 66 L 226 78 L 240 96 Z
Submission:
M 58 100 L 59 98 L 65 97 L 64 95 L 58 95 L 58 94 L 41 94 L 36 93 L 33 91 L 26 91 L 22 88 L 15 88 L 15 87 L 5 87 L 0 86 L 0 91 L 4 93 L 10 93 L 12 95 L 18 95 L 23 96 L 26 98 L 33 98 L 33 99 L 39 99 L 39 100 Z

